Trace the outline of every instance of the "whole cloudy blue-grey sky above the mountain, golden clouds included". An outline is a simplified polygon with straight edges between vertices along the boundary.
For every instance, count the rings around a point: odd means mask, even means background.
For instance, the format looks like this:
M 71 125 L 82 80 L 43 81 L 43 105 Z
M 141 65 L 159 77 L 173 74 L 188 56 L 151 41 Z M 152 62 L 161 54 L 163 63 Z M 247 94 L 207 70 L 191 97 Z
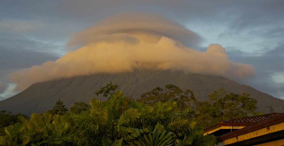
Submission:
M 284 1 L 1 0 L 0 100 L 140 68 L 221 75 L 284 99 Z

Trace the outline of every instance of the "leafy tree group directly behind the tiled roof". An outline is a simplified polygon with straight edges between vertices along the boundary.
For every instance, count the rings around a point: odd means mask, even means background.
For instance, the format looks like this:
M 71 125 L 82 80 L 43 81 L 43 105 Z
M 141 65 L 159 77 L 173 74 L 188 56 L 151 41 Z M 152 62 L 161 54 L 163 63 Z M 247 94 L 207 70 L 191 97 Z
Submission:
M 196 102 L 194 116 L 198 125 L 206 128 L 220 121 L 257 114 L 257 100 L 248 93 L 228 93 L 220 88 L 209 95 L 209 101 Z

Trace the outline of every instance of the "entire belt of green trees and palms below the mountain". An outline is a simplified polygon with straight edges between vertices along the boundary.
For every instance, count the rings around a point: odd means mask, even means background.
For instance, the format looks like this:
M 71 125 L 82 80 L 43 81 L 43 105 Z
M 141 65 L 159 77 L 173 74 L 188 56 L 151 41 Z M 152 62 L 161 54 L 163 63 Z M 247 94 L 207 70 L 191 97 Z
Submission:
M 247 93 L 219 89 L 209 101 L 200 102 L 191 90 L 166 85 L 134 101 L 116 89 L 107 84 L 95 92 L 107 101 L 76 102 L 70 111 L 58 100 L 45 113 L 13 115 L 19 118 L 2 125 L 0 145 L 214 145 L 215 137 L 203 136 L 202 128 L 257 114 L 257 101 Z M 5 112 L 2 115 L 12 115 Z

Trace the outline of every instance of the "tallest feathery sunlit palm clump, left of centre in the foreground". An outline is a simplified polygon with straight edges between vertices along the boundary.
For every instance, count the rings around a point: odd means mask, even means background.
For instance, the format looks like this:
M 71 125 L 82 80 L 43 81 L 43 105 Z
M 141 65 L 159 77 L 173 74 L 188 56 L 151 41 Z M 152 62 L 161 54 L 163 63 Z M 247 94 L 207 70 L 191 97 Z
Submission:
M 142 113 L 129 107 L 129 102 L 121 91 L 115 92 L 106 102 L 93 99 L 91 109 L 78 115 L 70 115 L 73 142 L 78 145 L 111 145 L 127 132 L 124 127 L 131 125 Z

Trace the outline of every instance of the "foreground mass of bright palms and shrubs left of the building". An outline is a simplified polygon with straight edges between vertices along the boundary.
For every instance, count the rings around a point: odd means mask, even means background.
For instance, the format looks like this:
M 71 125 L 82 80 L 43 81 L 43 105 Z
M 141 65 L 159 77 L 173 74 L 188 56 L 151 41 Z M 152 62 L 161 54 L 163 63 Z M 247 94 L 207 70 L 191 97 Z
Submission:
M 172 87 L 167 91 L 176 89 Z M 5 127 L 0 146 L 214 145 L 214 136 L 203 136 L 195 120 L 187 112 L 180 112 L 180 103 L 174 101 L 176 93 L 167 94 L 172 100 L 149 106 L 117 91 L 107 101 L 90 101 L 89 110 L 76 107 L 74 111 L 81 112 L 64 116 L 59 113 L 67 110 L 59 100 L 46 113 L 33 113 L 29 119 L 19 116 L 20 122 Z M 81 103 L 76 105 L 80 107 Z

